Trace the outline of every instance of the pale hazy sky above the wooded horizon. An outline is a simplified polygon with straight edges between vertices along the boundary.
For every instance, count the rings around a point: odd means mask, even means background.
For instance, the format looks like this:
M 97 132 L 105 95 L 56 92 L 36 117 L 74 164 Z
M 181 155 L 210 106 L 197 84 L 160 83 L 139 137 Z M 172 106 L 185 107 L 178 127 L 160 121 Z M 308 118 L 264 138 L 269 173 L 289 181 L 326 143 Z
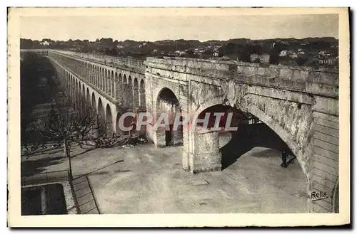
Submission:
M 230 38 L 338 38 L 338 14 L 163 14 L 119 11 L 118 14 L 32 14 L 21 16 L 21 38 L 67 41 L 113 38 L 124 41 L 228 40 Z M 143 13 L 144 12 L 144 13 Z M 193 11 L 192 11 L 193 12 Z M 133 14 L 131 14 L 133 13 Z M 226 13 L 226 12 L 225 12 Z

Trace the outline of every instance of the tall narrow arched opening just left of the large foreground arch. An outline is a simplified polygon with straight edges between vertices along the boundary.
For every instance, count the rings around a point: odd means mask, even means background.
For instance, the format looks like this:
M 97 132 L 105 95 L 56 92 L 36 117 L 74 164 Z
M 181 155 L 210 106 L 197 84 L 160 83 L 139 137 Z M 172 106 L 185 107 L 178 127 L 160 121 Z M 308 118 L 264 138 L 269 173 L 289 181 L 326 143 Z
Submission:
M 174 92 L 167 87 L 159 92 L 156 100 L 156 122 L 165 124 L 165 127 L 156 129 L 156 144 L 164 147 L 183 144 L 182 125 L 174 129 L 174 121 L 177 114 L 181 113 L 178 99 Z M 161 120 L 161 121 L 160 121 Z M 182 117 L 180 117 L 182 121 Z

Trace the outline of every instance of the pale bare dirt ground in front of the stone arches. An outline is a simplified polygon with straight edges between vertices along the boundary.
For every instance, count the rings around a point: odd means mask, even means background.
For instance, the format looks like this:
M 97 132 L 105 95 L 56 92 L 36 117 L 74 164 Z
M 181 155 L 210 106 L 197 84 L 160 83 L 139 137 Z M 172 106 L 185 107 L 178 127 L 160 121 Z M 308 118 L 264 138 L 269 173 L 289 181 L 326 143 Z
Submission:
M 221 144 L 228 139 L 222 137 Z M 281 168 L 279 151 L 255 147 L 223 171 L 190 174 L 181 169 L 181 150 L 151 144 L 74 147 L 74 177 L 89 175 L 101 213 L 308 212 L 301 167 L 296 161 Z M 65 170 L 62 151 L 22 157 L 23 172 Z

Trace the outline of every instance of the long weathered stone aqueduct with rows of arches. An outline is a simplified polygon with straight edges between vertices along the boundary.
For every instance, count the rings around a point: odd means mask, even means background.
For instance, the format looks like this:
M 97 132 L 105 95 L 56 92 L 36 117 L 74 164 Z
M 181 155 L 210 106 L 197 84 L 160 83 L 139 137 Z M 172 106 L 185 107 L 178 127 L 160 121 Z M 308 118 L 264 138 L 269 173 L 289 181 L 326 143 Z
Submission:
M 306 176 L 307 193 L 326 192 L 311 201 L 311 212 L 338 206 L 338 71 L 283 65 L 191 58 L 119 58 L 64 50 L 21 50 L 47 56 L 68 95 L 85 97 L 118 132 L 125 112 L 186 112 L 213 107 L 248 113 L 280 137 Z M 186 171 L 222 169 L 218 132 L 181 127 L 176 132 L 146 126 L 156 147 L 183 144 Z

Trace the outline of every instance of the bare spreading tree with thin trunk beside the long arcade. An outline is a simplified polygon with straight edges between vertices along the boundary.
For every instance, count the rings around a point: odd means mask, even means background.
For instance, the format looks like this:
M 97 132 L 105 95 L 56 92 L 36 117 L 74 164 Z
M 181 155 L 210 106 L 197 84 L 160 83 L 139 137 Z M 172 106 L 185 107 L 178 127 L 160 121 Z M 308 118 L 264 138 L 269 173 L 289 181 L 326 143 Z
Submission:
M 69 100 L 61 90 L 58 80 L 52 78 L 49 85 L 54 95 L 49 115 L 40 119 L 36 126 L 46 142 L 61 142 L 64 147 L 64 157 L 68 159 L 70 179 L 72 179 L 71 147 L 77 143 L 94 142 L 94 147 L 109 148 L 123 144 L 139 142 L 138 139 L 129 137 L 121 139 L 120 134 L 98 137 L 99 129 L 106 129 L 105 123 L 99 121 L 99 115 L 84 95 L 76 94 Z

